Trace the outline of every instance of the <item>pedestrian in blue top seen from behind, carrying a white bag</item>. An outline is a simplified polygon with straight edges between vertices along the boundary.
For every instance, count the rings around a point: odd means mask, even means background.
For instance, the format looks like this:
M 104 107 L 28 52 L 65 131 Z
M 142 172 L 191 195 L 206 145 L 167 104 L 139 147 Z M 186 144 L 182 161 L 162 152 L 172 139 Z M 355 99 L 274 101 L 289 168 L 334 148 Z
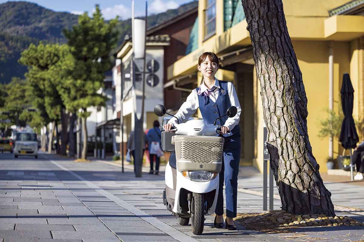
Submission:
M 159 173 L 159 160 L 161 154 L 161 130 L 159 129 L 158 120 L 154 120 L 153 128 L 151 128 L 147 133 L 148 140 L 148 148 L 149 148 L 149 160 L 150 160 L 150 172 L 149 174 L 154 173 L 153 164 L 155 160 L 155 175 Z

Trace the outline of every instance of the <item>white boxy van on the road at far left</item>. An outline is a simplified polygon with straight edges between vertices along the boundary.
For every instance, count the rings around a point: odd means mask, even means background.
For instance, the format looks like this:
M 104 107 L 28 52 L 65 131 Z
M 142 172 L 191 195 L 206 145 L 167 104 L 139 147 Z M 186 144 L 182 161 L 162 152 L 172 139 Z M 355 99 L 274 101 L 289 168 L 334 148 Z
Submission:
M 38 158 L 38 139 L 34 132 L 20 131 L 16 134 L 14 155 L 17 158 L 19 155 L 34 156 Z

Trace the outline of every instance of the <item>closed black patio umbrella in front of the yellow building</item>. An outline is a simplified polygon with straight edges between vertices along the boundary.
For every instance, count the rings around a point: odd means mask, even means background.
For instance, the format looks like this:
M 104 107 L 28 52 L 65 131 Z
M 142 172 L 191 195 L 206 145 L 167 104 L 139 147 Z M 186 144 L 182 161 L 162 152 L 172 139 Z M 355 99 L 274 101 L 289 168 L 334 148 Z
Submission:
M 341 124 L 340 142 L 345 149 L 355 148 L 359 141 L 353 119 L 354 89 L 349 74 L 343 76 L 341 86 L 341 106 L 343 108 L 344 120 Z

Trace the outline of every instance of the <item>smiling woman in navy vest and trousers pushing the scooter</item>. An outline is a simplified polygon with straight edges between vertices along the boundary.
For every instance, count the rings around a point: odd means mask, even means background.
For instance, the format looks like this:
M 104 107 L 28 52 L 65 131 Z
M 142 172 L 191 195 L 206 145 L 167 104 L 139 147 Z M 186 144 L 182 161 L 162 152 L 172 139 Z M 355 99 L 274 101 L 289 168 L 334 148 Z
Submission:
M 219 60 L 212 52 L 203 53 L 198 59 L 197 69 L 201 71 L 202 81 L 197 89 L 187 97 L 175 116 L 179 122 L 185 122 L 190 116 L 200 109 L 202 118 L 210 124 L 219 116 L 226 114 L 230 106 L 237 107 L 237 114 L 233 118 L 221 118 L 217 124 L 221 128 L 224 137 L 223 164 L 220 172 L 219 194 L 215 209 L 216 217 L 214 226 L 223 227 L 223 184 L 225 179 L 225 198 L 226 198 L 226 220 L 225 226 L 229 230 L 235 230 L 236 225 L 233 218 L 236 217 L 237 207 L 237 188 L 238 172 L 240 161 L 240 127 L 239 118 L 241 108 L 239 100 L 231 82 L 219 81 L 215 74 L 219 68 Z M 171 130 L 177 123 L 172 118 L 165 126 L 166 131 Z M 230 131 L 230 134 L 227 134 Z M 203 155 L 203 154 L 201 154 Z

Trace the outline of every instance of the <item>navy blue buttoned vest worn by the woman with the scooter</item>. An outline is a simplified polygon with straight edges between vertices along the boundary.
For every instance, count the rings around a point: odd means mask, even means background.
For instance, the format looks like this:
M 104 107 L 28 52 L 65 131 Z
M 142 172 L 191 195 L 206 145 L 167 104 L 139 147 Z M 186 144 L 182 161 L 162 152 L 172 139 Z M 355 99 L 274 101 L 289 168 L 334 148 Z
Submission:
M 226 114 L 227 109 L 231 106 L 229 94 L 227 93 L 227 82 L 226 81 L 219 81 L 220 89 L 218 98 L 216 102 L 211 101 L 211 99 L 207 99 L 207 103 L 205 104 L 205 98 L 197 95 L 198 97 L 198 107 L 201 111 L 202 118 L 208 124 L 214 124 L 215 119 L 221 117 Z M 200 87 L 197 87 L 196 91 L 198 92 Z M 217 120 L 217 125 L 224 125 L 227 116 Z M 239 124 L 237 124 L 233 130 L 230 130 L 230 134 L 234 135 L 240 132 Z

